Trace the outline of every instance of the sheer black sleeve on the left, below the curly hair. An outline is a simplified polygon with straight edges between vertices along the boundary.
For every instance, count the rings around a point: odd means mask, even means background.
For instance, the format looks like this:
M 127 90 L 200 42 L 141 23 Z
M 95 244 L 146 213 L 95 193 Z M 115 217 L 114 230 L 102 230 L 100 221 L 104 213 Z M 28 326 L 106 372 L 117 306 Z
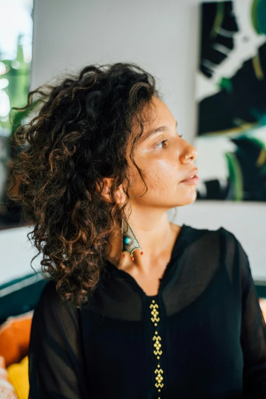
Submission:
M 61 300 L 49 281 L 33 315 L 29 399 L 89 397 L 80 342 L 78 309 Z

